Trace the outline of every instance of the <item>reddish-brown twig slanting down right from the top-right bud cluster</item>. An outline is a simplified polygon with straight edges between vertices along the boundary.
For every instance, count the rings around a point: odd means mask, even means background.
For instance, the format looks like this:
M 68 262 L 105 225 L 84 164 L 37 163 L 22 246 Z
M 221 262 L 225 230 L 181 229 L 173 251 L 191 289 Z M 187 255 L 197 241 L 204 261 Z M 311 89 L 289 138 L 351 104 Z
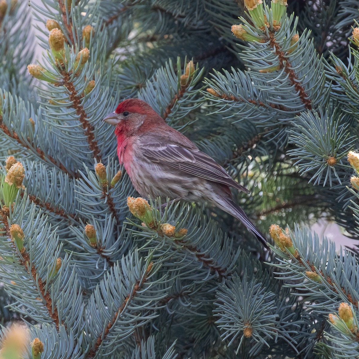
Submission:
M 294 70 L 292 69 L 292 64 L 289 62 L 288 58 L 285 57 L 284 51 L 282 51 L 279 44 L 276 42 L 275 32 L 269 32 L 269 43 L 270 46 L 275 49 L 275 54 L 278 56 L 279 59 L 279 66 L 281 69 L 284 68 L 284 71 L 288 74 L 289 80 L 294 85 L 295 90 L 299 93 L 299 97 L 302 100 L 304 106 L 308 109 L 312 109 L 312 102 L 308 97 L 308 94 L 304 90 L 302 84 L 298 80 L 297 75 L 295 74 Z

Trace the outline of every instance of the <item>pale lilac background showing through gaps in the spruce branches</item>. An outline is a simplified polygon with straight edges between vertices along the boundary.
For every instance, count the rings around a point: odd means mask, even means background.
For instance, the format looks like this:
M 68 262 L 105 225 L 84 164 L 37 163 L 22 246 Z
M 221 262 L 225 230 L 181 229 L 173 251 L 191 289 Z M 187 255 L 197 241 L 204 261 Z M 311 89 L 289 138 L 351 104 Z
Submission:
M 41 0 L 30 0 L 29 2 L 37 5 L 41 4 Z M 41 23 L 33 18 L 33 24 L 37 23 L 40 27 L 45 29 L 46 20 L 47 19 L 44 18 L 44 21 Z M 35 32 L 37 32 L 37 29 L 35 29 Z M 36 43 L 35 58 L 40 60 L 42 57 L 42 52 L 43 48 L 38 45 L 38 43 Z M 312 230 L 313 232 L 316 232 L 318 234 L 319 238 L 326 236 L 330 241 L 335 242 L 337 251 L 339 251 L 340 246 L 353 247 L 355 244 L 359 244 L 359 241 L 344 236 L 344 234 L 341 233 L 341 228 L 339 227 L 339 225 L 334 222 L 319 220 L 316 224 L 312 226 Z

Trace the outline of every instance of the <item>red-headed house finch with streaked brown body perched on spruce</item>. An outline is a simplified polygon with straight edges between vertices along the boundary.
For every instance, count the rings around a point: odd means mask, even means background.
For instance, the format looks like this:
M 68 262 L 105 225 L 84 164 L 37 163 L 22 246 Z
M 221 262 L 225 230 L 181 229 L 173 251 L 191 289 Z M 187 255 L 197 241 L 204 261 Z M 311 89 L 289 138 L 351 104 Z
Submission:
M 143 197 L 209 202 L 238 218 L 267 246 L 229 187 L 249 191 L 186 136 L 168 126 L 146 102 L 130 98 L 103 121 L 115 125 L 117 155 Z

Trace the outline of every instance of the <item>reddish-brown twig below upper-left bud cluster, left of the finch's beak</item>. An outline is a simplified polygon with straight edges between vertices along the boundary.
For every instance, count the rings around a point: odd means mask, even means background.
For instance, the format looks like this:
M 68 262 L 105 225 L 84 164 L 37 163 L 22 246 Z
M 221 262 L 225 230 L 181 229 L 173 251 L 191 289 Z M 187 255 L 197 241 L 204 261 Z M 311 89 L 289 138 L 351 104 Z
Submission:
M 81 97 L 77 94 L 76 89 L 72 81 L 70 81 L 70 74 L 68 72 L 63 72 L 64 76 L 64 85 L 70 93 L 70 101 L 72 101 L 71 107 L 76 110 L 76 115 L 80 116 L 79 121 L 83 129 L 85 130 L 85 135 L 87 136 L 87 142 L 89 144 L 90 150 L 92 151 L 93 157 L 97 162 L 101 162 L 100 149 L 98 148 L 97 141 L 94 136 L 94 127 L 87 120 L 87 115 L 84 110 L 84 107 L 81 105 Z

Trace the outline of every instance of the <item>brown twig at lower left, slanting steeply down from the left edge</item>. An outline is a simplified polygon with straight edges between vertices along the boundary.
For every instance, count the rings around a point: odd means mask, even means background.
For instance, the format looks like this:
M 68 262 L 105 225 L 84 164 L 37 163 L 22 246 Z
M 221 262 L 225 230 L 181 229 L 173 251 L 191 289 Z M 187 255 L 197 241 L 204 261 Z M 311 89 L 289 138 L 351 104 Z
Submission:
M 8 216 L 9 216 L 9 210 L 5 209 L 4 207 L 0 210 L 0 216 L 1 220 L 4 223 L 4 228 L 6 231 L 6 236 L 11 238 L 10 234 L 10 226 L 8 222 Z M 14 246 L 14 250 L 15 246 Z M 17 250 L 16 250 L 17 251 Z M 59 325 L 65 325 L 62 320 L 59 318 L 59 313 L 56 308 L 56 304 L 52 302 L 52 298 L 50 297 L 50 294 L 45 291 L 46 284 L 43 282 L 41 277 L 39 276 L 39 273 L 36 270 L 36 267 L 34 266 L 33 262 L 30 259 L 29 253 L 26 251 L 26 248 L 23 247 L 22 251 L 20 251 L 21 257 L 19 259 L 19 262 L 24 268 L 27 270 L 27 272 L 31 275 L 33 282 L 35 283 L 36 288 L 38 288 L 41 299 L 45 303 L 45 306 L 47 308 L 47 311 L 52 318 L 53 322 L 56 325 L 56 329 L 59 330 Z M 28 264 L 32 263 L 31 269 L 29 269 Z

